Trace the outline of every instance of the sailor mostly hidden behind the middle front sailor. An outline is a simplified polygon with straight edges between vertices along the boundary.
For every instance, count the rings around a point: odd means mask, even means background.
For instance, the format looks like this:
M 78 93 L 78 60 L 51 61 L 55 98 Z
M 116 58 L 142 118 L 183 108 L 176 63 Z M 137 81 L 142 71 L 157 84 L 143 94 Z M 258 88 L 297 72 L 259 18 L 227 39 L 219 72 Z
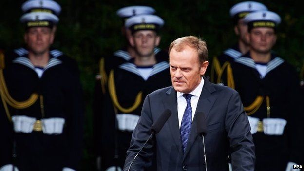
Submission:
M 99 73 L 96 76 L 96 83 L 95 83 L 95 90 L 94 90 L 94 102 L 93 102 L 93 111 L 94 111 L 94 137 L 95 137 L 95 144 L 100 144 L 100 131 L 101 125 L 100 125 L 100 111 L 101 109 L 101 99 L 103 98 L 102 96 L 106 93 L 106 89 L 108 87 L 107 83 L 107 78 L 109 76 L 109 73 L 112 69 L 117 68 L 120 64 L 125 63 L 132 59 L 135 56 L 135 50 L 133 46 L 131 46 L 129 42 L 129 38 L 131 37 L 131 31 L 125 27 L 125 21 L 136 15 L 141 15 L 141 14 L 153 14 L 155 13 L 155 10 L 152 7 L 149 6 L 128 6 L 121 8 L 117 10 L 116 14 L 121 18 L 121 33 L 123 35 L 122 41 L 124 41 L 125 45 L 120 48 L 119 50 L 115 51 L 113 55 L 109 57 L 102 57 L 99 63 Z M 164 57 L 166 58 L 167 53 L 164 51 L 161 51 L 159 48 L 155 48 L 154 52 L 157 56 Z M 96 149 L 98 149 L 98 145 Z M 96 150 L 97 156 L 100 156 L 100 151 Z M 97 157 L 97 160 L 99 161 L 100 157 Z M 97 162 L 98 163 L 98 162 Z M 98 164 L 97 164 L 98 165 Z M 99 165 L 98 165 L 99 166 Z

